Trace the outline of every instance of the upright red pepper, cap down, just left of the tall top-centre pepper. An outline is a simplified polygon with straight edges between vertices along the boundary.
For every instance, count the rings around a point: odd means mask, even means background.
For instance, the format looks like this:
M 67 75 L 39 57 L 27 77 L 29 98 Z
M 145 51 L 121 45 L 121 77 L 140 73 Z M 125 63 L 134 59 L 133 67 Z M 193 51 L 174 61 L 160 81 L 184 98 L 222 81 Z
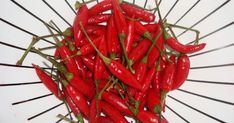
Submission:
M 120 52 L 121 48 L 118 41 L 118 36 L 113 16 L 110 17 L 107 23 L 106 39 L 107 39 L 108 53 L 110 55 L 110 58 L 114 59 L 116 57 L 116 53 Z

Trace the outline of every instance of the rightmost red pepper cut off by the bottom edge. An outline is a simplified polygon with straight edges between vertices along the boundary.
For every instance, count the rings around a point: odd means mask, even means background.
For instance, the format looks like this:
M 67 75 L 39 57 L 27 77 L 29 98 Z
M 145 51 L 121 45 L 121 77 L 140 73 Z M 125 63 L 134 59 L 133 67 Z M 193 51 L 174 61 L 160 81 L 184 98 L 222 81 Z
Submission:
M 138 112 L 136 117 L 142 123 L 159 123 L 159 117 L 149 111 L 141 110 Z M 162 119 L 161 123 L 168 123 L 168 121 L 165 119 Z

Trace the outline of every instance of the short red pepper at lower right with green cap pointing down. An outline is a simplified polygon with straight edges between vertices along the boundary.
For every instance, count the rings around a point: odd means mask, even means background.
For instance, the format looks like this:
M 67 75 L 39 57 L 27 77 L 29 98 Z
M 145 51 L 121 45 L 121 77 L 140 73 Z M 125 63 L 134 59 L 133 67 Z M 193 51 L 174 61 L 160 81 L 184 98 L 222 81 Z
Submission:
M 153 88 L 151 88 L 149 89 L 146 98 L 149 110 L 153 113 L 160 114 L 162 111 L 160 92 L 157 93 Z

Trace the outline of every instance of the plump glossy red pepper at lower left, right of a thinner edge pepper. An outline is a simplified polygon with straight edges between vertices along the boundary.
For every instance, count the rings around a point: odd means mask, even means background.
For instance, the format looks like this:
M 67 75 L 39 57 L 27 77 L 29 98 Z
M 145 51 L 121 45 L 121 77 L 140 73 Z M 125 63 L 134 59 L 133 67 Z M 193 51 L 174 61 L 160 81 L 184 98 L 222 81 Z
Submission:
M 68 84 L 65 87 L 67 93 L 72 98 L 76 106 L 80 109 L 80 111 L 86 116 L 89 117 L 89 106 L 85 97 L 74 87 Z

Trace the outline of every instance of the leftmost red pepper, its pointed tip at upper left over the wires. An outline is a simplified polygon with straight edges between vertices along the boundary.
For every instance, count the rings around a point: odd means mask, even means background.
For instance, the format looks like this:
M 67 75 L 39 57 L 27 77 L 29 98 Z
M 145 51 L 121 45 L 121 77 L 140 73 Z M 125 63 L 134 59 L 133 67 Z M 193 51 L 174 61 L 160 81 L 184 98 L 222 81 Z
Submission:
M 39 66 L 34 64 L 32 65 L 42 83 L 50 90 L 50 92 L 55 95 L 55 97 L 57 97 L 59 100 L 62 100 L 64 98 L 63 93 L 59 90 L 58 85 L 55 83 L 55 81 L 48 74 L 42 71 Z

